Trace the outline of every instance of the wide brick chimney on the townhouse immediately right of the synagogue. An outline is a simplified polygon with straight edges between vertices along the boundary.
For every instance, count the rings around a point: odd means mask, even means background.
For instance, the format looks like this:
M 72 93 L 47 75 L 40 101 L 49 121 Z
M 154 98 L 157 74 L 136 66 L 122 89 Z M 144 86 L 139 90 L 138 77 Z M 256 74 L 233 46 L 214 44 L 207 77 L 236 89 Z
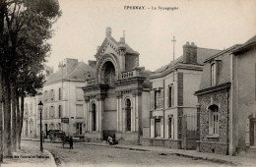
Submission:
M 185 45 L 183 45 L 183 63 L 186 64 L 197 64 L 197 46 L 194 42 L 187 41 Z

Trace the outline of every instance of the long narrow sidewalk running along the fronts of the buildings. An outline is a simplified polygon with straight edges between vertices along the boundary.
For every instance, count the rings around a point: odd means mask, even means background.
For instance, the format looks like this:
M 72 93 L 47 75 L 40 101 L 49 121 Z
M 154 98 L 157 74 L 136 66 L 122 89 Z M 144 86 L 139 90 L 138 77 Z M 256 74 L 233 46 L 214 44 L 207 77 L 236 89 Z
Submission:
M 185 156 L 193 159 L 204 159 L 214 161 L 217 163 L 223 163 L 231 166 L 256 166 L 256 157 L 246 156 L 229 156 L 214 153 L 197 152 L 196 150 L 184 150 L 184 149 L 171 149 L 161 146 L 142 146 L 142 145 L 109 145 L 105 142 L 77 142 L 77 144 L 90 144 L 97 146 L 107 146 L 121 149 L 140 150 L 140 151 L 157 151 L 159 153 Z

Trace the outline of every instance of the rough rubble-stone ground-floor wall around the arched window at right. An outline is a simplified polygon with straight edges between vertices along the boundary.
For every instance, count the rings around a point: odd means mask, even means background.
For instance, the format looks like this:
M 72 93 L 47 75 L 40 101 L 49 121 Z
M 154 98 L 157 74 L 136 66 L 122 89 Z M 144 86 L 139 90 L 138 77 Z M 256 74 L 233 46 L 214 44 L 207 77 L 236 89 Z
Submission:
M 228 100 L 226 90 L 219 90 L 198 96 L 200 108 L 199 151 L 226 154 L 228 139 Z M 219 106 L 219 136 L 209 135 L 209 111 L 211 105 Z

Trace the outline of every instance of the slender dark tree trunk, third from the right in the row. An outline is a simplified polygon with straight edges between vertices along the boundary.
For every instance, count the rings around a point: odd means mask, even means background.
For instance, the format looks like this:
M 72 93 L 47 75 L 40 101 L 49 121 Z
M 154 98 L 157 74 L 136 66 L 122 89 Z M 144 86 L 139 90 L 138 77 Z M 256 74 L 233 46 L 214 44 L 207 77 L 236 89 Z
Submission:
M 12 98 L 12 148 L 13 151 L 17 151 L 17 127 L 16 127 L 16 86 L 11 85 L 11 98 Z

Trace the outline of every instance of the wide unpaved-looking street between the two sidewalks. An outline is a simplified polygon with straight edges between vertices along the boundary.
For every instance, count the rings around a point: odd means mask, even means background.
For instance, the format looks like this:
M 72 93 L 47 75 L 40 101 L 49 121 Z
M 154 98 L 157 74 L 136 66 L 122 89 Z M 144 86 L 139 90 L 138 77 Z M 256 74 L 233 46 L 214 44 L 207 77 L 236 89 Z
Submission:
M 38 141 L 24 140 L 23 145 L 39 147 Z M 205 160 L 186 158 L 154 151 L 138 151 L 88 144 L 66 144 L 45 142 L 44 148 L 55 157 L 58 166 L 226 166 Z

